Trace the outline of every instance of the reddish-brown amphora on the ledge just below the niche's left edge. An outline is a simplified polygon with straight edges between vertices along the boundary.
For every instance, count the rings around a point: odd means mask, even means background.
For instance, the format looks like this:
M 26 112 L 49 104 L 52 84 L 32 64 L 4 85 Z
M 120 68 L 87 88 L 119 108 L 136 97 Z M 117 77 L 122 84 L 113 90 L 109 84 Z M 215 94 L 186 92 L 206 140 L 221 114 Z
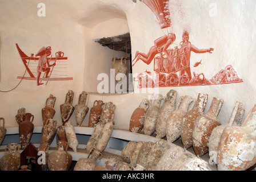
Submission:
M 99 119 L 101 118 L 101 111 L 102 111 L 102 105 L 103 101 L 96 100 L 93 103 L 93 107 L 91 107 L 90 110 L 90 116 L 89 116 L 89 127 L 94 127 L 95 124 L 99 122 Z

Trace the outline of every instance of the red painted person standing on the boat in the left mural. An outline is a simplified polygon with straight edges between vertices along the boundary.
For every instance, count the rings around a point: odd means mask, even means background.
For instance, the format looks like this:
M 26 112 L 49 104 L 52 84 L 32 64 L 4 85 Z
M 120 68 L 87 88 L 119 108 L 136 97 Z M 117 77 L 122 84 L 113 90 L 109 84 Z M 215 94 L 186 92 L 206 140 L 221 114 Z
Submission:
M 38 66 L 37 66 L 37 86 L 42 85 L 42 83 L 39 82 L 41 73 L 45 72 L 45 78 L 48 78 L 50 67 L 55 65 L 55 63 L 51 65 L 49 64 L 49 59 L 47 56 L 50 56 L 50 55 L 51 55 L 51 47 L 47 47 L 47 48 L 43 47 L 38 51 L 37 55 L 35 55 L 35 56 L 40 56 L 38 61 Z

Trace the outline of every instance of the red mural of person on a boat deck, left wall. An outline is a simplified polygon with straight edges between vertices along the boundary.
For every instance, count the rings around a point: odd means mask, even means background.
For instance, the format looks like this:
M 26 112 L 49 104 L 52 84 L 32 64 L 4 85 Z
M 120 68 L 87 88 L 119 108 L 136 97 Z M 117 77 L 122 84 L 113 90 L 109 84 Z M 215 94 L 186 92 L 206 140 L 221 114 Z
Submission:
M 50 46 L 42 47 L 34 57 L 34 53 L 27 56 L 18 44 L 16 44 L 16 47 L 25 65 L 26 72 L 29 74 L 27 77 L 25 75 L 17 76 L 18 79 L 34 80 L 37 86 L 47 85 L 49 81 L 73 80 L 73 77 L 67 77 L 67 57 L 64 57 L 64 52 L 58 51 L 53 57 Z

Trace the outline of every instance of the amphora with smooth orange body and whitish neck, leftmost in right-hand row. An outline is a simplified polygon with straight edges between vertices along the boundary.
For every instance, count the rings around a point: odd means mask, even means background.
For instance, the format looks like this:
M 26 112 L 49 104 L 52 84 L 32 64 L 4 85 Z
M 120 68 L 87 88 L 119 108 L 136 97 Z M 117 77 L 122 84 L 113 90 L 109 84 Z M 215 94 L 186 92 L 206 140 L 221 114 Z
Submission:
M 143 99 L 139 107 L 133 111 L 130 119 L 129 130 L 134 133 L 140 133 L 144 126 L 144 120 L 147 109 L 149 109 L 149 100 Z

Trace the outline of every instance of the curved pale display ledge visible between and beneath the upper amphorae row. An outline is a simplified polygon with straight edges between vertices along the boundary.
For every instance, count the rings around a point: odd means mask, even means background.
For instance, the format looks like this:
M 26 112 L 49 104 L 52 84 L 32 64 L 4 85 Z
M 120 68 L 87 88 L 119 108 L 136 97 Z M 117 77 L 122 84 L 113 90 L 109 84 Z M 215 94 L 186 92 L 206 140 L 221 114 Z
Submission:
M 75 133 L 80 134 L 80 135 L 91 135 L 91 134 L 93 134 L 93 131 L 94 131 L 94 127 L 85 127 L 85 126 L 79 126 L 79 127 L 74 126 L 74 129 L 75 129 Z M 41 133 L 41 132 L 42 132 L 42 126 L 35 126 L 34 127 L 33 133 Z M 13 135 L 13 134 L 19 134 L 19 127 L 6 127 L 6 135 Z M 104 152 L 109 154 L 109 155 L 114 155 L 117 158 L 118 157 L 121 158 L 122 150 L 118 150 L 117 149 L 118 147 L 115 147 L 115 145 L 118 145 L 118 141 L 115 140 L 114 142 L 111 142 L 111 139 L 119 139 L 122 143 L 125 143 L 125 144 L 123 144 L 123 147 L 125 147 L 125 145 L 129 141 L 135 141 L 135 142 L 139 142 L 139 141 L 149 142 L 149 141 L 151 141 L 151 142 L 155 143 L 158 140 L 160 140 L 159 138 L 156 138 L 154 135 L 153 136 L 148 136 L 148 135 L 141 134 L 141 133 L 133 133 L 129 130 L 114 129 L 113 133 L 111 134 L 110 141 L 108 142 Z M 165 139 L 165 138 L 163 138 L 163 139 Z M 53 143 L 51 143 L 49 153 L 55 150 L 56 143 L 57 143 L 57 138 L 55 136 L 55 138 L 53 140 Z M 39 143 L 35 143 L 34 145 L 35 145 L 35 147 L 38 147 Z M 181 139 L 176 140 L 174 143 L 169 142 L 169 146 L 170 147 L 177 147 L 178 146 L 178 147 L 183 148 Z M 5 155 L 5 150 L 4 150 L 5 148 L 6 148 L 6 145 L 0 146 L 0 158 L 3 155 Z M 77 152 L 74 152 L 70 148 L 69 148 L 68 152 L 70 152 L 70 154 L 72 155 L 73 160 L 77 161 L 79 158 L 87 158 L 88 154 L 86 153 L 85 148 L 86 148 L 86 144 L 78 144 Z M 195 156 L 193 147 L 190 147 L 185 152 L 187 154 Z M 207 153 L 207 154 L 201 156 L 201 159 L 203 159 L 207 163 L 209 163 L 209 154 Z M 99 166 L 102 166 L 105 163 L 105 161 L 106 161 L 106 156 L 103 155 L 102 160 L 99 162 Z M 213 165 L 209 164 L 209 167 L 214 171 L 217 170 L 217 166 L 214 165 L 214 164 Z

